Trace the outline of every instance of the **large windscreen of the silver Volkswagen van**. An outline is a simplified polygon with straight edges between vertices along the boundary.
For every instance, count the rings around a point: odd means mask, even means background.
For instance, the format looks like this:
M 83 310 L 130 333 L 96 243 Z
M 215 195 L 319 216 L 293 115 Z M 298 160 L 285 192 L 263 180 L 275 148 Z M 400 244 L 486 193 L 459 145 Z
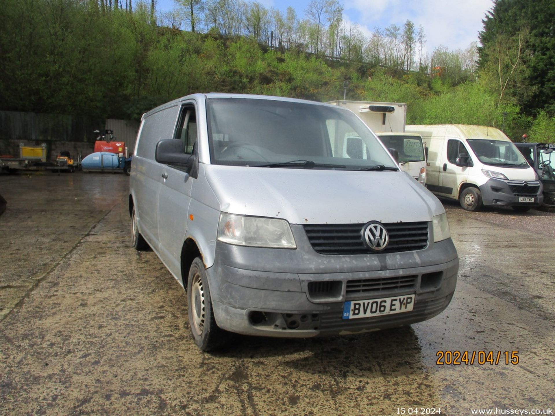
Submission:
M 211 163 L 361 170 L 395 162 L 350 111 L 279 100 L 206 100 Z M 380 169 L 384 170 L 384 169 Z

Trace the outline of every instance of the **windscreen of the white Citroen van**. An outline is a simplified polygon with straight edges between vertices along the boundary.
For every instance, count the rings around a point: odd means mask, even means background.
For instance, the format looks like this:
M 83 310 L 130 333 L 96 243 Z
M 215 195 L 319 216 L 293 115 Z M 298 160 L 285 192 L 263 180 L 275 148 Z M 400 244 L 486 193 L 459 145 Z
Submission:
M 502 166 L 504 168 L 529 168 L 529 165 L 511 141 L 468 139 L 478 159 L 491 166 Z

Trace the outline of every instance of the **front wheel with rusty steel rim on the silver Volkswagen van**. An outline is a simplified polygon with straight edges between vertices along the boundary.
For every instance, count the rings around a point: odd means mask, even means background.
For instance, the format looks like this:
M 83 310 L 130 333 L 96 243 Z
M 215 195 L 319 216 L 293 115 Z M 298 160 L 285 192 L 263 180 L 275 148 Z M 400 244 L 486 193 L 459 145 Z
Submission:
M 228 343 L 230 333 L 220 329 L 214 319 L 208 277 L 204 264 L 196 257 L 189 269 L 187 310 L 191 334 L 201 351 L 214 351 Z

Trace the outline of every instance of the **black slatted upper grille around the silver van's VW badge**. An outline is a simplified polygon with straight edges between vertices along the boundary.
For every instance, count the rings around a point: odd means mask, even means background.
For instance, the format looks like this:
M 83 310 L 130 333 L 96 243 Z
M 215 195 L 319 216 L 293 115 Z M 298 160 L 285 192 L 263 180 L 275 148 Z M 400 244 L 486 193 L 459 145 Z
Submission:
M 380 253 L 423 250 L 428 245 L 428 222 L 391 222 L 383 224 L 389 243 Z M 320 254 L 375 253 L 362 241 L 365 224 L 306 224 L 310 245 Z

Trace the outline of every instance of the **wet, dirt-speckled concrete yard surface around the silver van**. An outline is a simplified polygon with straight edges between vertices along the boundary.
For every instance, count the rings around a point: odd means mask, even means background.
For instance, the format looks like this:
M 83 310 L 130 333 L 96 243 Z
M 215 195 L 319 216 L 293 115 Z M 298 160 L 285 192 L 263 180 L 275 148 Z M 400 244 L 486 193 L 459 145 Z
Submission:
M 439 316 L 360 336 L 237 337 L 207 354 L 190 337 L 183 289 L 152 251 L 129 245 L 128 177 L 0 175 L 0 194 L 0 414 L 555 405 L 555 214 L 444 201 L 461 267 Z M 518 351 L 519 362 L 438 365 L 443 351 Z

